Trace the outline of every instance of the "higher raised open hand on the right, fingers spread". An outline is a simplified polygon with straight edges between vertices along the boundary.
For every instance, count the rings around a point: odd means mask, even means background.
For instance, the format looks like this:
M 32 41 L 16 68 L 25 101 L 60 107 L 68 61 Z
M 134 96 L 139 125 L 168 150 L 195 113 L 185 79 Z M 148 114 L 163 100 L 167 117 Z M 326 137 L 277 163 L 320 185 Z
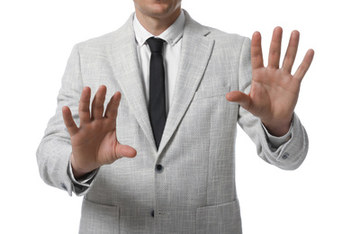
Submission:
M 310 49 L 302 64 L 292 75 L 300 33 L 293 31 L 282 67 L 281 57 L 283 30 L 275 28 L 269 49 L 268 66 L 264 66 L 261 35 L 254 33 L 251 42 L 252 82 L 249 94 L 232 91 L 227 94 L 230 102 L 239 103 L 248 112 L 256 115 L 275 136 L 282 136 L 290 128 L 293 110 L 297 103 L 302 78 L 311 66 L 314 51 Z

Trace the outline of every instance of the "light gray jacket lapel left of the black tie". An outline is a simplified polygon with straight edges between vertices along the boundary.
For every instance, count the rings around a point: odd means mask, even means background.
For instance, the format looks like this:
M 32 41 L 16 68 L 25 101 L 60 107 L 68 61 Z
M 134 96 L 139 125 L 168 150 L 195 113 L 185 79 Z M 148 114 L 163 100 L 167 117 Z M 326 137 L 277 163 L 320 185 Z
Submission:
M 133 30 L 133 14 L 118 31 L 112 33 L 107 43 L 107 53 L 112 63 L 114 76 L 121 85 L 122 102 L 127 102 L 140 128 L 151 145 L 155 146 L 148 118 L 146 95 L 141 82 L 139 59 Z M 123 101 L 123 99 L 125 101 Z M 156 150 L 156 146 L 155 146 Z

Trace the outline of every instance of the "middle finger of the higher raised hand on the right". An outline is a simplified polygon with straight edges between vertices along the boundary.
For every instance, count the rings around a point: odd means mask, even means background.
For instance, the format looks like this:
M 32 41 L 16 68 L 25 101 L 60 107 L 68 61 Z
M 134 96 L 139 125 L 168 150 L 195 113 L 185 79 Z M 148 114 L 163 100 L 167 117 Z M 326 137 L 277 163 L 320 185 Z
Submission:
M 271 46 L 269 48 L 268 67 L 279 68 L 280 54 L 282 48 L 283 29 L 276 27 L 273 31 Z

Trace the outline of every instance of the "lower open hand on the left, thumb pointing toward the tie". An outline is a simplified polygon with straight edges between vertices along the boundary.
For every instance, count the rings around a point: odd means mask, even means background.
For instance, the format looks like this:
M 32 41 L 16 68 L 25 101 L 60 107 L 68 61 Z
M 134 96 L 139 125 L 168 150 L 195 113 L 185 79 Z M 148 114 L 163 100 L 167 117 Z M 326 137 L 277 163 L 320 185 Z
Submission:
M 127 145 L 121 145 L 116 137 L 117 110 L 121 101 L 121 93 L 112 95 L 103 115 L 103 103 L 106 86 L 97 90 L 90 112 L 91 90 L 85 87 L 80 96 L 78 113 L 79 128 L 72 118 L 67 106 L 62 108 L 62 115 L 71 138 L 71 164 L 76 178 L 94 169 L 112 164 L 121 157 L 135 157 L 137 151 Z

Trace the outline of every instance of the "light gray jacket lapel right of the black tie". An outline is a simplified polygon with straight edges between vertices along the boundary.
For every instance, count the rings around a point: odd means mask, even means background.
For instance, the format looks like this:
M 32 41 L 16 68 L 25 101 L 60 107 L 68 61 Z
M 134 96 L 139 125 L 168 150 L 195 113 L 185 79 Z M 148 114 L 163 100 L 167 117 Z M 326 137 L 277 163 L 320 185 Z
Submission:
M 194 22 L 186 12 L 185 17 L 182 53 L 175 82 L 175 93 L 158 148 L 158 156 L 175 133 L 179 122 L 193 100 L 193 95 L 211 58 L 214 44 L 214 40 L 206 38 L 206 35 L 210 32 L 208 29 Z

